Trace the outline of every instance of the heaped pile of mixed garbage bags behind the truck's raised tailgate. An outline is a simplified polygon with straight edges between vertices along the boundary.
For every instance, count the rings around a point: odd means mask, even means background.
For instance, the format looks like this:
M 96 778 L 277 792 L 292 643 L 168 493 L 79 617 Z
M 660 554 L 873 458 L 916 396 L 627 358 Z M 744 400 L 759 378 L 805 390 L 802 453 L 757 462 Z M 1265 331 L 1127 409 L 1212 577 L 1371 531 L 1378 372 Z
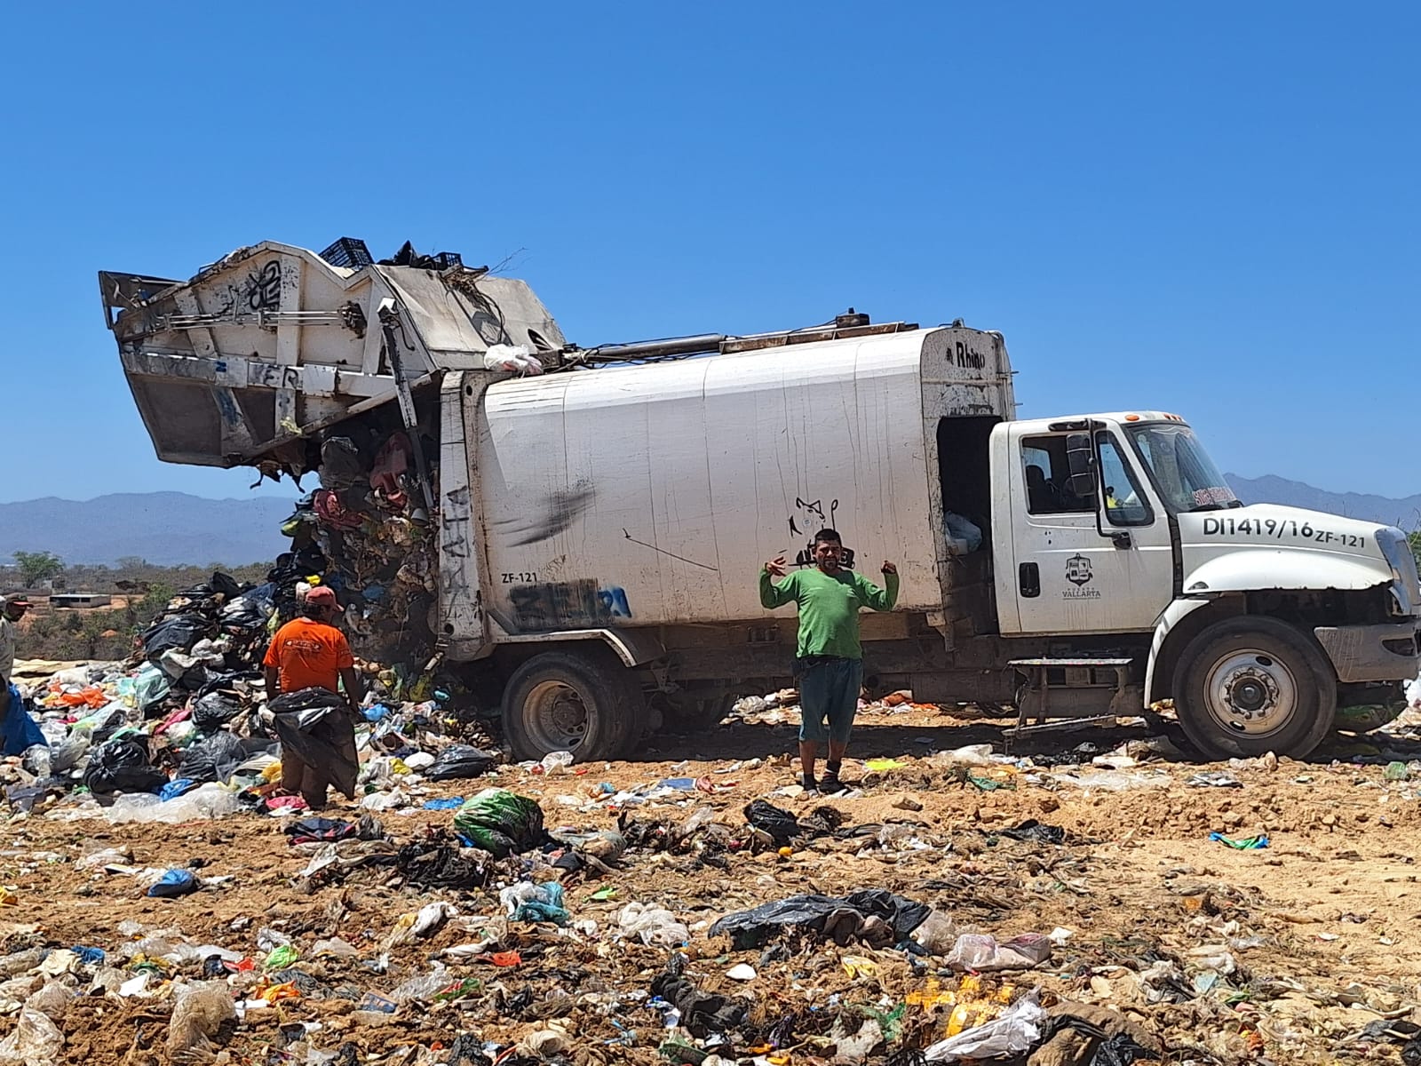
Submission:
M 298 806 L 298 797 L 279 795 L 280 726 L 293 716 L 274 712 L 261 672 L 287 591 L 296 608 L 310 587 L 288 587 L 296 571 L 287 570 L 260 586 L 215 573 L 182 590 L 141 635 L 141 655 L 129 662 L 36 677 L 21 661 L 3 736 L 4 753 L 20 759 L 0 769 L 10 804 L 23 812 L 63 804 L 75 816 L 104 813 L 115 822 Z M 423 782 L 476 777 L 503 762 L 453 712 L 445 688 L 401 699 L 395 694 L 408 695 L 408 687 L 395 671 L 367 661 L 358 667 L 367 681 L 357 729 L 361 766 L 348 769 L 378 793 L 372 809 L 408 806 Z

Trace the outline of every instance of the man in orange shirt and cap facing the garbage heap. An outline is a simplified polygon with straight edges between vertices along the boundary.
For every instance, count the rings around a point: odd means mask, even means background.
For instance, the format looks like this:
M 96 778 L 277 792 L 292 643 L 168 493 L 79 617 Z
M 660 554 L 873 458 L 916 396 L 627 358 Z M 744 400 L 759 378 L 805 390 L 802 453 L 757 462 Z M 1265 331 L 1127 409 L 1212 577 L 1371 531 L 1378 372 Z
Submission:
M 266 658 L 261 661 L 266 667 L 269 701 L 274 699 L 279 691 L 286 695 L 308 688 L 321 688 L 340 694 L 340 687 L 345 688 L 350 716 L 327 716 L 310 731 L 303 731 L 308 732 L 314 748 L 331 752 L 330 766 L 310 765 L 293 750 L 290 743 L 281 743 L 281 787 L 286 792 L 300 793 L 313 810 L 325 806 L 325 793 L 331 785 L 345 793 L 347 799 L 355 799 L 352 768 L 360 766 L 360 756 L 355 753 L 354 719 L 360 716 L 364 687 L 360 674 L 355 672 L 355 659 L 345 641 L 345 634 L 331 624 L 335 610 L 334 591 L 325 586 L 313 588 L 306 596 L 301 617 L 288 621 L 276 631 L 271 647 L 267 648 Z M 283 732 L 280 716 L 277 732 Z

